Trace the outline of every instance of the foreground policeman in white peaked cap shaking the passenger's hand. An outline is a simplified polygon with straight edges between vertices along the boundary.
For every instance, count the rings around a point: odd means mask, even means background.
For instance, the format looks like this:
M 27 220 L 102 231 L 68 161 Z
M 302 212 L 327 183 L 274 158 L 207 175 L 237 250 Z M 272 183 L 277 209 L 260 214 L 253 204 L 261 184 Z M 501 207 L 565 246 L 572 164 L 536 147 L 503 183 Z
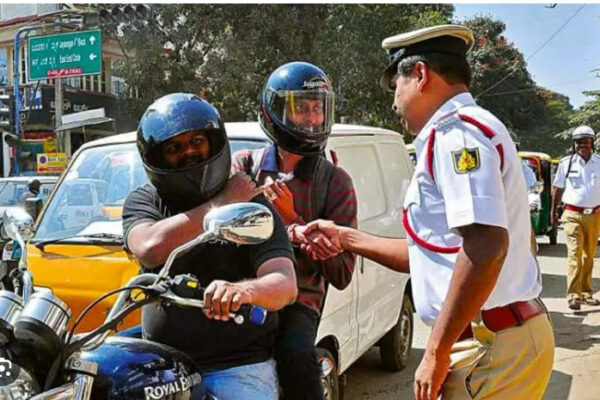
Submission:
M 506 127 L 471 94 L 466 27 L 389 37 L 380 84 L 416 135 L 407 239 L 313 223 L 340 247 L 401 272 L 432 331 L 415 373 L 418 400 L 541 399 L 554 336 L 529 245 L 521 162 Z

